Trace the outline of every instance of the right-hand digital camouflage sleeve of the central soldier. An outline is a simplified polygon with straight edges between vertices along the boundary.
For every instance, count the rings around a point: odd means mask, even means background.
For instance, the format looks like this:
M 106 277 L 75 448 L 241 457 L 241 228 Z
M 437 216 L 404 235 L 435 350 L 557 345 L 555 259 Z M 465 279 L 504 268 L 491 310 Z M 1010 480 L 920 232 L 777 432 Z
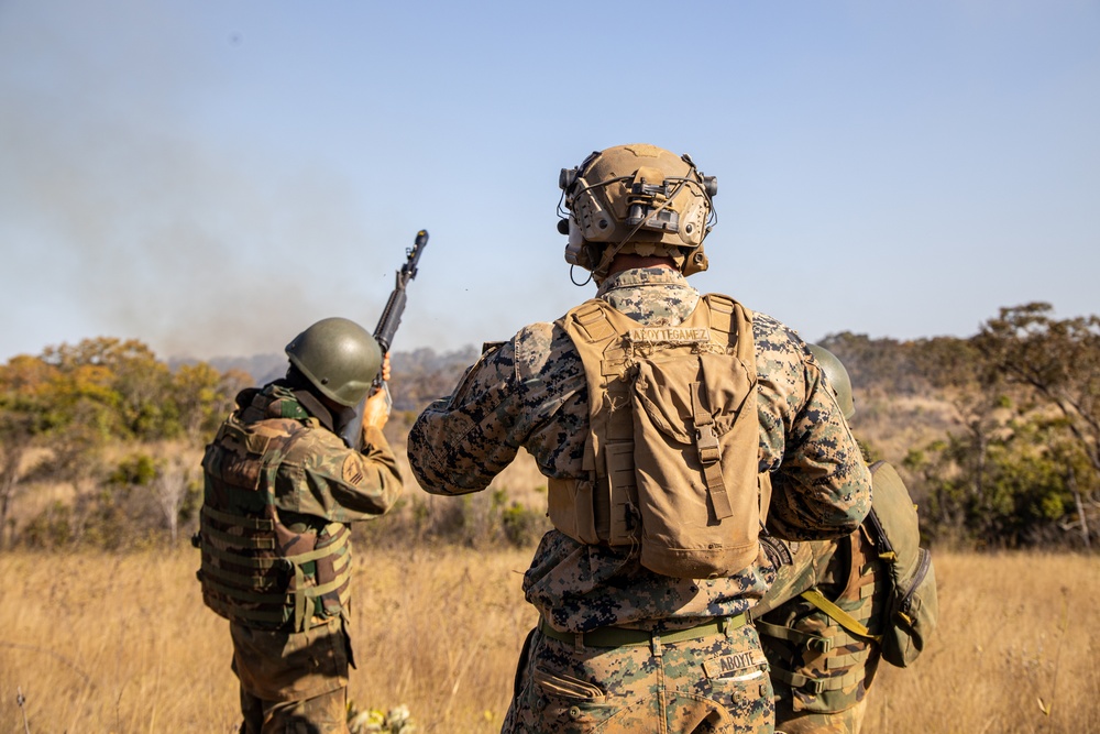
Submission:
M 771 457 L 768 528 L 789 540 L 836 538 L 871 507 L 871 475 L 802 339 L 757 315 L 762 453 Z

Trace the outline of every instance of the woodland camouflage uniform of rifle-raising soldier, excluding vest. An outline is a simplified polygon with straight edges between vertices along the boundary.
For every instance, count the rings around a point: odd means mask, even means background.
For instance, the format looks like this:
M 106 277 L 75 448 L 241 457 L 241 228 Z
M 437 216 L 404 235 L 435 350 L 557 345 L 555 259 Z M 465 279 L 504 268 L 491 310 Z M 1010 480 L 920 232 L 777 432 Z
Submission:
M 315 406 L 312 412 L 302 401 Z M 318 528 L 331 528 L 331 523 L 370 519 L 385 513 L 397 500 L 402 478 L 381 430 L 364 430 L 362 451 L 348 448 L 334 431 L 332 418 L 323 406 L 311 395 L 293 390 L 283 381 L 263 390 L 243 391 L 237 403 L 239 408 L 227 420 L 227 426 L 248 428 L 261 421 L 294 426 L 295 438 L 286 445 L 285 456 L 278 458 L 274 493 L 268 500 L 274 502 L 289 533 L 316 533 Z M 284 420 L 293 423 L 278 423 Z M 219 431 L 211 448 L 219 445 L 221 435 Z M 210 456 L 208 449 L 208 458 Z M 270 456 L 264 458 L 271 459 Z M 233 491 L 211 476 L 209 467 L 206 469 L 206 506 L 221 513 L 262 516 L 257 503 L 264 502 L 263 497 L 253 499 L 248 493 Z M 249 468 L 234 469 L 249 471 Z M 327 533 L 322 529 L 318 537 Z M 207 554 L 217 552 L 217 547 L 212 538 L 204 538 L 202 547 L 206 565 Z M 344 552 L 348 558 L 340 560 L 350 562 L 350 546 Z M 290 555 L 285 550 L 279 554 Z M 322 562 L 326 561 L 318 560 L 316 565 Z M 310 565 L 305 568 L 307 576 L 301 583 L 315 584 L 309 573 L 318 571 Z M 204 583 L 207 582 L 204 580 Z M 244 715 L 242 733 L 348 731 L 348 665 L 354 666 L 346 631 L 348 590 L 341 588 L 339 594 L 330 593 L 311 601 L 315 603 L 307 609 L 308 618 L 300 629 L 287 628 L 286 624 L 250 624 L 231 617 L 232 667 L 241 683 Z

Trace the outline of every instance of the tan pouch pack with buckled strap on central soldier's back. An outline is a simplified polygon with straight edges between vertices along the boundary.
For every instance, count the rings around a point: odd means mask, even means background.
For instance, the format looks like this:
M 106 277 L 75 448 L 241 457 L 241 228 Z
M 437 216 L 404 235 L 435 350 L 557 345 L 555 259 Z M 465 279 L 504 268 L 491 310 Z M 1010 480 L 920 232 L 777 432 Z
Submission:
M 641 563 L 684 579 L 756 560 L 760 526 L 755 381 L 740 360 L 642 361 L 634 382 Z

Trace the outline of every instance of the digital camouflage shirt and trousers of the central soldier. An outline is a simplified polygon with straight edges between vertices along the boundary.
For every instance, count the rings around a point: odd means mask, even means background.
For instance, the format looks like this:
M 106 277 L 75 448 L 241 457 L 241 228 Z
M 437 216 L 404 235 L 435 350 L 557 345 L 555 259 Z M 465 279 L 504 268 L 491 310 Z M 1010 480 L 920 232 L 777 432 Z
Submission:
M 680 273 L 657 267 L 615 273 L 597 297 L 661 327 L 681 324 L 700 294 Z M 847 424 L 793 331 L 756 314 L 754 339 L 759 468 L 772 472 L 769 528 L 794 539 L 850 533 L 870 506 L 870 479 Z M 436 494 L 485 489 L 519 447 L 546 476 L 579 479 L 587 436 L 581 359 L 560 327 L 535 324 L 486 346 L 451 397 L 420 415 L 409 461 Z M 628 546 L 583 545 L 550 530 L 524 578 L 542 622 L 525 646 L 503 731 L 771 731 L 772 689 L 756 631 L 729 624 L 690 639 L 675 632 L 737 617 L 773 574 L 761 552 L 727 578 L 676 579 L 644 568 Z M 598 646 L 576 635 L 596 632 L 598 640 L 623 627 L 646 631 L 645 644 Z M 662 643 L 669 635 L 674 642 Z

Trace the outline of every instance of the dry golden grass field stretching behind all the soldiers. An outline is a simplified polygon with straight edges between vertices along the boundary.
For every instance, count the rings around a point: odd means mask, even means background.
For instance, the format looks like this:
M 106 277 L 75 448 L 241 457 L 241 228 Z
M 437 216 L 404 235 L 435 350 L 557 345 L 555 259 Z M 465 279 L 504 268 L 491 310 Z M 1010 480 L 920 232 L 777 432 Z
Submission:
M 358 548 L 351 698 L 424 733 L 496 732 L 534 622 L 530 551 Z M 0 734 L 235 731 L 197 552 L 0 555 Z M 941 628 L 883 667 L 866 731 L 1100 732 L 1100 558 L 938 554 Z M 22 708 L 16 690 L 25 697 Z

